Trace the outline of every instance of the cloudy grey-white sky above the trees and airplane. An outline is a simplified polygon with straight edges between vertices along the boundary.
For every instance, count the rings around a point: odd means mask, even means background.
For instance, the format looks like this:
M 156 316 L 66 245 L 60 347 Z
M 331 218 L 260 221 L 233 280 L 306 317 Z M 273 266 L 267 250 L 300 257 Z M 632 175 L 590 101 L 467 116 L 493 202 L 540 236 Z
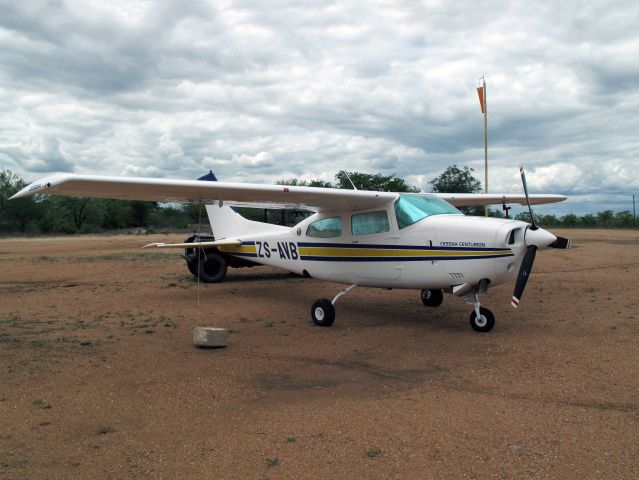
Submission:
M 639 3 L 0 0 L 0 168 L 273 183 L 448 165 L 631 210 Z

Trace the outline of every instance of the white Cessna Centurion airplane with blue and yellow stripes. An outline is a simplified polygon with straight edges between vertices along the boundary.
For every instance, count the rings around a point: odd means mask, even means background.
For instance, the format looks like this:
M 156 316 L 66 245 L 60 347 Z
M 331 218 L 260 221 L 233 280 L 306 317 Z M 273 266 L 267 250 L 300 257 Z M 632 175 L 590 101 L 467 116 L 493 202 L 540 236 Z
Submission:
M 479 296 L 516 278 L 512 305 L 524 292 L 538 249 L 568 248 L 570 241 L 512 219 L 465 216 L 456 206 L 560 202 L 563 195 L 414 194 L 330 188 L 256 185 L 197 180 L 54 174 L 12 198 L 53 194 L 206 204 L 214 241 L 156 243 L 158 248 L 200 248 L 199 268 L 221 281 L 227 266 L 250 261 L 308 278 L 348 285 L 332 300 L 313 303 L 319 326 L 335 320 L 335 304 L 355 287 L 421 290 L 437 307 L 443 292 L 473 305 L 472 328 L 490 331 L 495 317 Z M 277 204 L 315 211 L 293 227 L 247 220 L 230 204 Z M 531 219 L 532 210 L 530 210 Z

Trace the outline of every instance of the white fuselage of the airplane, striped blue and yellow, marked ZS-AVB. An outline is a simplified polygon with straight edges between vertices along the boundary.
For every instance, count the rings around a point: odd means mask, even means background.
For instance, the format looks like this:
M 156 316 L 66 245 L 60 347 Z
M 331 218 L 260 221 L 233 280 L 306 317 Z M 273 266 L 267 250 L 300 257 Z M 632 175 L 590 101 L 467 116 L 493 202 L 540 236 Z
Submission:
M 382 288 L 445 289 L 517 275 L 525 222 L 443 212 L 414 223 L 397 205 L 323 211 L 288 228 L 238 237 L 229 255 L 300 275 Z

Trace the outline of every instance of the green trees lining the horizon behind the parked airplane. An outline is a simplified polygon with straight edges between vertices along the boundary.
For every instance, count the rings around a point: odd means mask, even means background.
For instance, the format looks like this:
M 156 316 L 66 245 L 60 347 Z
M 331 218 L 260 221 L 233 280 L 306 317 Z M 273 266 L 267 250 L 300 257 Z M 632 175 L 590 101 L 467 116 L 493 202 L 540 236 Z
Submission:
M 335 182 L 324 180 L 281 179 L 280 185 L 342 188 L 358 190 L 420 192 L 396 175 L 369 174 L 339 171 Z M 478 193 L 481 182 L 473 176 L 473 169 L 449 166 L 442 174 L 429 182 L 433 192 Z M 98 233 L 109 230 L 145 227 L 151 229 L 187 230 L 197 223 L 206 223 L 204 209 L 191 203 L 161 204 L 139 200 L 110 200 L 85 197 L 58 197 L 40 195 L 9 201 L 9 198 L 24 188 L 27 183 L 10 170 L 0 170 L 0 233 Z M 483 207 L 462 209 L 468 215 L 484 215 Z M 266 212 L 261 209 L 242 209 L 243 215 L 253 220 L 277 222 L 284 220 L 281 212 Z M 289 212 L 290 213 L 290 212 Z M 503 217 L 501 209 L 489 209 L 489 215 Z M 287 218 L 294 218 L 288 216 Z M 527 212 L 515 216 L 529 221 Z M 596 214 L 555 215 L 536 214 L 536 220 L 545 227 L 634 227 L 631 212 L 605 210 Z

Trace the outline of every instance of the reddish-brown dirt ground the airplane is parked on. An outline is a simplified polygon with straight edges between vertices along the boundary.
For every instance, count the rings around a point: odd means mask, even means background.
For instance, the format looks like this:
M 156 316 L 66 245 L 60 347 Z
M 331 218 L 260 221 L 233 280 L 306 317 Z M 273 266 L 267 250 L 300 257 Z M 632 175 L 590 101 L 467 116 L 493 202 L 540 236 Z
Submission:
M 315 327 L 342 287 L 139 248 L 181 235 L 2 239 L 0 478 L 639 478 L 639 232 L 558 233 L 488 334 L 400 290 Z

